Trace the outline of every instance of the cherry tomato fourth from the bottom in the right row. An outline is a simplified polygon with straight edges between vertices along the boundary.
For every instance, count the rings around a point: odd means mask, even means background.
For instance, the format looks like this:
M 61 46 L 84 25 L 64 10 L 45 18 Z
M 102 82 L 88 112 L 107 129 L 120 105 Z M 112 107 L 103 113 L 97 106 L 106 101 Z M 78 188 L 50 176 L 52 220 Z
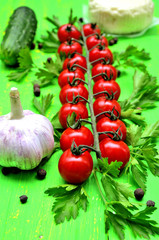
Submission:
M 114 80 L 107 81 L 107 80 L 104 80 L 103 78 L 101 78 L 94 84 L 93 94 L 103 92 L 103 91 L 108 92 L 109 95 L 113 95 L 114 96 L 113 99 L 115 99 L 115 100 L 118 100 L 118 98 L 120 96 L 120 86 Z M 105 93 L 101 93 L 101 94 L 95 95 L 94 97 L 99 98 L 104 95 L 105 95 Z

